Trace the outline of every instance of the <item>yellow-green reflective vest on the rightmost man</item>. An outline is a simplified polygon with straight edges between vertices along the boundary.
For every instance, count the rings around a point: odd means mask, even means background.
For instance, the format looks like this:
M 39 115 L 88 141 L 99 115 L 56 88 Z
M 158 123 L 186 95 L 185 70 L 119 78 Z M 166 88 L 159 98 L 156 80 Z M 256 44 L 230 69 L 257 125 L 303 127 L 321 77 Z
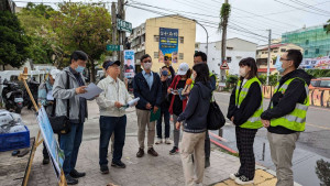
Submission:
M 280 91 L 284 95 L 287 87 L 289 86 L 289 84 L 296 78 L 298 78 L 298 77 L 288 79 L 280 87 L 278 87 L 279 83 L 277 83 L 275 90 L 274 90 L 274 95 L 277 91 Z M 298 78 L 298 79 L 301 79 L 301 78 Z M 301 79 L 301 80 L 304 80 L 304 79 Z M 308 86 L 305 80 L 304 80 L 304 83 L 305 83 L 305 90 L 306 90 L 306 99 L 305 99 L 304 103 L 297 102 L 294 111 L 292 111 L 290 113 L 288 113 L 282 118 L 272 119 L 271 120 L 272 127 L 282 125 L 282 127 L 293 130 L 293 131 L 298 131 L 298 132 L 305 131 L 306 113 L 307 113 L 308 106 L 309 106 L 309 95 L 308 95 L 309 90 L 308 90 Z M 273 102 L 271 102 L 271 109 L 273 109 Z

